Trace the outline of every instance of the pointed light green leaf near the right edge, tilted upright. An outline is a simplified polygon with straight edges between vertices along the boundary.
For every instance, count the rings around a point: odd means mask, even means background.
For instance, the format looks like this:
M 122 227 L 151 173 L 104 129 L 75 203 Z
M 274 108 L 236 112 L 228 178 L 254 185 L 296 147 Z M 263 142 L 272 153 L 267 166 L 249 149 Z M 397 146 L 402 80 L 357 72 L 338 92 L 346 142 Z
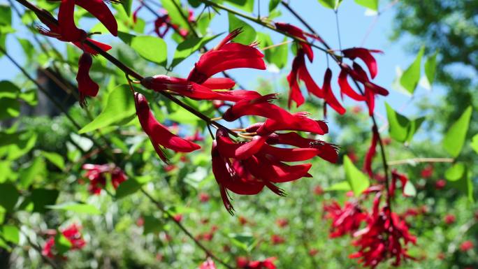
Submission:
M 443 138 L 443 147 L 451 157 L 458 157 L 463 145 L 465 144 L 466 133 L 468 132 L 468 125 L 470 124 L 472 111 L 472 107 L 468 106 L 460 118 L 451 125 Z

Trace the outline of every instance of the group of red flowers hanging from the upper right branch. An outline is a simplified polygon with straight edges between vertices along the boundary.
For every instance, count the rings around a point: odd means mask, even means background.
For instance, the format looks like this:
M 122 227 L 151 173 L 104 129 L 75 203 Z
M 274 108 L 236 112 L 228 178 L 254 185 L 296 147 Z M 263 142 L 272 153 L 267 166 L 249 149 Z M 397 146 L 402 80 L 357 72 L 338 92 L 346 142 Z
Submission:
M 289 108 L 291 107 L 292 101 L 294 101 L 297 106 L 301 106 L 305 101 L 298 85 L 298 80 L 302 80 L 307 88 L 307 92 L 317 96 L 320 99 L 324 99 L 326 105 L 331 106 L 331 108 L 333 108 L 333 110 L 338 112 L 340 115 L 344 114 L 346 111 L 345 108 L 339 103 L 332 92 L 331 69 L 327 68 L 326 73 L 324 74 L 324 85 L 319 87 L 312 79 L 312 76 L 310 75 L 309 71 L 307 71 L 307 66 L 305 65 L 305 55 L 307 55 L 307 58 L 311 63 L 314 59 L 314 52 L 312 51 L 312 46 L 307 41 L 307 36 L 323 43 L 321 38 L 316 35 L 308 34 L 302 29 L 284 22 L 276 22 L 275 27 L 280 31 L 300 39 L 300 41 L 297 42 L 297 54 L 292 62 L 291 73 L 289 73 L 287 76 L 287 81 L 289 82 L 290 87 Z M 372 56 L 372 53 L 376 52 L 381 51 L 368 50 L 365 48 L 349 48 L 347 50 L 342 50 L 343 57 L 352 60 L 353 63 L 352 67 L 350 67 L 349 65 L 343 63 L 342 57 L 340 57 L 341 71 L 338 76 L 338 85 L 340 86 L 340 94 L 342 99 L 345 94 L 355 101 L 365 101 L 367 103 L 370 115 L 372 115 L 375 108 L 375 95 L 379 94 L 386 96 L 389 94 L 386 89 L 379 87 L 370 81 L 370 78 L 373 79 L 375 78 L 375 75 L 377 75 L 377 62 Z M 356 58 L 361 59 L 365 63 L 370 73 L 370 78 L 363 68 L 354 61 Z M 357 93 L 349 85 L 349 77 L 356 82 L 360 82 L 365 91 Z M 326 115 L 326 105 L 324 106 L 324 115 Z

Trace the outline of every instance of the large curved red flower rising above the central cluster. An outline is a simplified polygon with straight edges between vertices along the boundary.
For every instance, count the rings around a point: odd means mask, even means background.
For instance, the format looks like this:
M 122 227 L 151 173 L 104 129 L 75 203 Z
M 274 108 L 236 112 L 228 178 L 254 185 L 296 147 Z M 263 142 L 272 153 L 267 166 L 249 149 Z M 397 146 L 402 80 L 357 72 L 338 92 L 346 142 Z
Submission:
M 231 43 L 241 32 L 242 29 L 232 31 L 214 49 L 205 52 L 194 65 L 187 80 L 202 84 L 212 75 L 233 68 L 265 70 L 264 55 L 255 48 L 255 44 Z

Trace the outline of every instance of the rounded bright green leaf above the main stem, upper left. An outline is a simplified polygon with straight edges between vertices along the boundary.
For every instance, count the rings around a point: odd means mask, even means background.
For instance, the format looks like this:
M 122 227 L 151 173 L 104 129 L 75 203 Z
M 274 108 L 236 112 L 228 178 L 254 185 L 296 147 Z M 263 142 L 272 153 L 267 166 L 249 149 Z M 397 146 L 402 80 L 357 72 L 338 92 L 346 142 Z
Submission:
M 168 61 L 168 48 L 166 42 L 154 36 L 136 36 L 131 41 L 131 48 L 140 54 L 140 57 L 155 64 L 166 66 Z

